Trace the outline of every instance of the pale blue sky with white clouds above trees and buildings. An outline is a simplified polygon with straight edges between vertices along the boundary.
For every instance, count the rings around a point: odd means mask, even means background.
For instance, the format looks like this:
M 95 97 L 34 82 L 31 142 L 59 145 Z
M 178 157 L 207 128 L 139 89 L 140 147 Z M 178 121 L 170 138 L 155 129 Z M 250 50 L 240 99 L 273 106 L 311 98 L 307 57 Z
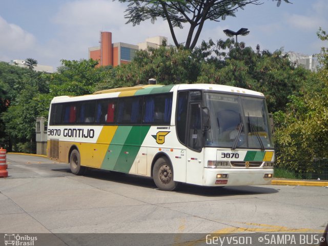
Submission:
M 290 0 L 277 7 L 272 0 L 247 5 L 236 17 L 213 22 L 207 20 L 201 40 L 226 39 L 224 29 L 248 28 L 250 34 L 238 36 L 255 50 L 283 49 L 306 55 L 320 53 L 327 46 L 316 35 L 319 27 L 328 31 L 328 0 Z M 155 24 L 125 24 L 126 5 L 112 0 L 0 0 L 0 60 L 34 58 L 39 65 L 61 65 L 61 59 L 88 59 L 88 48 L 99 45 L 101 31 L 112 32 L 112 41 L 128 44 L 145 42 L 153 36 L 166 36 L 174 44 L 168 24 L 158 18 Z M 189 26 L 176 28 L 179 43 L 186 41 Z

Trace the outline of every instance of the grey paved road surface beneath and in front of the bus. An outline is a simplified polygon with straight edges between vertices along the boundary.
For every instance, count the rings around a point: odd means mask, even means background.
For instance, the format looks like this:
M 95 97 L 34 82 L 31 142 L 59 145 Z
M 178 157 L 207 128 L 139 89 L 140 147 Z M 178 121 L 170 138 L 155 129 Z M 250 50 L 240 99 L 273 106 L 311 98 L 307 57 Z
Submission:
M 183 184 L 166 192 L 134 175 L 75 176 L 43 157 L 8 154 L 7 163 L 0 233 L 322 233 L 328 223 L 324 187 Z

